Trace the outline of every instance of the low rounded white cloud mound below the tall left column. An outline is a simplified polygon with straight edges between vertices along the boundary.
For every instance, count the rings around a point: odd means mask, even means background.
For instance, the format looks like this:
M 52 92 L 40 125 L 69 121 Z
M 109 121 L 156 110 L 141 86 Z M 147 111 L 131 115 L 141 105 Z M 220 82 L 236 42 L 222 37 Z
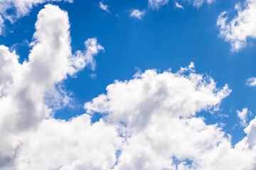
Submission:
M 44 120 L 18 147 L 16 169 L 110 169 L 122 145 L 116 128 L 89 115 L 72 120 Z

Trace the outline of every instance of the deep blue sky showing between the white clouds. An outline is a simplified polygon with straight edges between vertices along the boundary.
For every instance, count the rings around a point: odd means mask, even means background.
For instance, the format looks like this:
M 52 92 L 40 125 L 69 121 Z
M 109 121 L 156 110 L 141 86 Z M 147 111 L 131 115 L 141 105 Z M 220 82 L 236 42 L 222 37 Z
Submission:
M 99 7 L 100 2 L 107 5 L 108 11 Z M 245 2 L 249 5 L 244 6 Z M 15 16 L 16 6 L 10 5 L 11 8 L 2 12 L 1 16 L 4 17 L 4 14 L 13 16 L 14 22 L 11 23 L 5 19 L 0 35 L 0 44 L 9 47 L 10 51 L 15 50 L 16 55 L 20 57 L 18 59 L 20 64 L 24 61 L 29 62 L 28 55 L 33 49 L 33 46 L 29 44 L 35 40 L 33 34 L 37 31 L 35 23 L 39 20 L 38 13 L 45 8 L 46 4 L 53 4 L 68 12 L 70 47 L 72 47 L 73 54 L 78 50 L 85 50 L 84 42 L 88 38 L 97 38 L 97 42 L 104 47 L 104 50 L 99 50 L 97 56 L 94 56 L 97 64 L 95 70 L 92 70 L 89 64 L 88 67 L 80 69 L 73 75 L 67 73 L 68 77 L 58 82 L 58 85 L 62 86 L 61 91 L 65 91 L 71 101 L 68 106 L 60 105 L 53 108 L 55 111 L 51 114 L 54 115 L 52 118 L 54 120 L 79 118 L 80 115 L 90 110 L 89 108 L 84 109 L 84 103 L 92 101 L 93 98 L 97 98 L 101 94 L 109 93 L 106 87 L 113 84 L 115 80 L 129 81 L 134 79 L 133 76 L 137 72 L 144 73 L 151 69 L 158 70 L 159 74 L 169 69 L 175 73 L 181 67 L 188 67 L 193 62 L 196 74 L 212 77 L 218 89 L 222 89 L 225 84 L 228 84 L 232 91 L 222 98 L 221 102 L 213 105 L 219 106 L 218 111 L 208 110 L 208 107 L 201 108 L 203 111 L 195 116 L 196 118 L 203 117 L 206 125 L 220 125 L 225 135 L 231 135 L 230 142 L 234 147 L 247 137 L 244 132 L 245 126 L 240 123 L 238 111 L 247 108 L 246 126 L 255 118 L 256 87 L 248 86 L 247 79 L 256 77 L 256 41 L 255 32 L 249 33 L 250 29 L 241 30 L 245 29 L 242 24 L 247 21 L 243 23 L 242 20 L 238 20 L 238 23 L 233 25 L 233 30 L 228 30 L 228 26 L 231 26 L 228 24 L 232 24 L 233 19 L 238 17 L 238 12 L 235 10 L 236 4 L 240 4 L 240 13 L 242 13 L 250 8 L 254 10 L 253 5 L 256 2 L 252 0 L 216 0 L 212 3 L 204 1 L 202 6 L 196 7 L 193 5 L 193 1 L 178 1 L 183 8 L 176 8 L 175 3 L 176 1 L 170 0 L 159 8 L 150 8 L 148 0 L 74 0 L 73 3 L 48 1 L 36 4 L 21 17 Z M 132 17 L 131 13 L 134 9 L 144 11 L 144 15 L 141 18 Z M 223 11 L 228 11 L 226 14 L 228 21 L 225 25 L 225 29 L 228 31 L 221 35 L 218 18 Z M 245 15 L 245 17 L 253 18 L 254 16 Z M 249 21 L 251 20 L 248 20 L 246 26 L 252 27 L 253 23 L 250 25 Z M 235 35 L 237 33 L 235 29 L 245 34 L 245 40 L 239 35 Z M 230 36 L 230 40 L 227 39 L 227 36 Z M 233 42 L 240 41 L 246 41 L 246 45 L 232 46 Z M 188 70 L 188 73 L 190 72 L 193 70 Z M 96 77 L 90 77 L 92 74 Z M 213 91 L 217 91 L 217 89 Z M 122 94 L 116 93 L 117 96 L 122 96 Z M 176 98 L 176 96 L 173 97 Z M 50 106 L 48 107 L 50 108 Z M 94 123 L 105 114 L 114 111 L 104 113 L 101 108 L 97 108 L 92 114 L 92 122 Z M 120 122 L 122 121 L 120 120 Z M 123 152 L 125 151 L 124 149 Z M 173 156 L 175 157 L 175 155 Z M 186 157 L 186 159 L 190 160 L 191 157 Z M 178 165 L 176 166 L 178 167 Z M 16 166 L 16 169 L 18 169 L 17 167 L 19 166 Z M 117 166 L 117 169 L 122 169 L 122 167 L 121 165 Z M 192 169 L 192 165 L 189 167 Z M 206 166 L 202 165 L 202 167 Z M 193 168 L 200 169 L 196 165 L 193 165 Z M 50 168 L 46 167 L 46 169 Z M 159 169 L 161 169 L 160 166 Z

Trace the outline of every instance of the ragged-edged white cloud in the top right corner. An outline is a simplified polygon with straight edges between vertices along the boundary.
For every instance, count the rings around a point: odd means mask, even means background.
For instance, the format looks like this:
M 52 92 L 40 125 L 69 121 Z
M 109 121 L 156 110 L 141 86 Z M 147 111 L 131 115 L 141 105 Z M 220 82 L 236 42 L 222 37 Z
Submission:
M 230 42 L 231 50 L 238 51 L 246 47 L 248 38 L 256 38 L 256 1 L 246 0 L 244 7 L 240 4 L 235 5 L 238 16 L 228 21 L 227 11 L 218 16 L 217 26 L 219 27 L 220 37 Z

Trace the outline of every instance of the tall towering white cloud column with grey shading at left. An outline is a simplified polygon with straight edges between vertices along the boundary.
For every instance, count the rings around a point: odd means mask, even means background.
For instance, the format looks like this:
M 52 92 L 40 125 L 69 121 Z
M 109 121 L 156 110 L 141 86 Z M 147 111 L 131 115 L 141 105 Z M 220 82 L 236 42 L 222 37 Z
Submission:
M 56 86 L 87 64 L 95 66 L 93 55 L 102 46 L 92 38 L 85 42 L 85 52 L 72 55 L 69 28 L 68 13 L 47 5 L 38 13 L 28 61 L 18 63 L 15 52 L 0 46 L 1 166 L 11 164 L 24 133 L 51 118 L 55 105 L 63 102 L 65 93 L 60 93 Z M 46 105 L 49 100 L 51 106 Z

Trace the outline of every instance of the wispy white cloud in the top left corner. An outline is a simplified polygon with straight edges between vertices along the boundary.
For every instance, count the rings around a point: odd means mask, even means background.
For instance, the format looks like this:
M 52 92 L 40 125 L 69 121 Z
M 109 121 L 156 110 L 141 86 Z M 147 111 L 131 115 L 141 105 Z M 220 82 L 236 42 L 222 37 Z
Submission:
M 1 0 L 0 1 L 0 34 L 1 29 L 4 27 L 4 20 L 9 20 L 11 23 L 16 21 L 17 18 L 26 16 L 33 6 L 38 4 L 43 4 L 48 1 L 68 1 L 73 2 L 73 0 Z M 15 11 L 14 14 L 9 14 L 8 10 Z

